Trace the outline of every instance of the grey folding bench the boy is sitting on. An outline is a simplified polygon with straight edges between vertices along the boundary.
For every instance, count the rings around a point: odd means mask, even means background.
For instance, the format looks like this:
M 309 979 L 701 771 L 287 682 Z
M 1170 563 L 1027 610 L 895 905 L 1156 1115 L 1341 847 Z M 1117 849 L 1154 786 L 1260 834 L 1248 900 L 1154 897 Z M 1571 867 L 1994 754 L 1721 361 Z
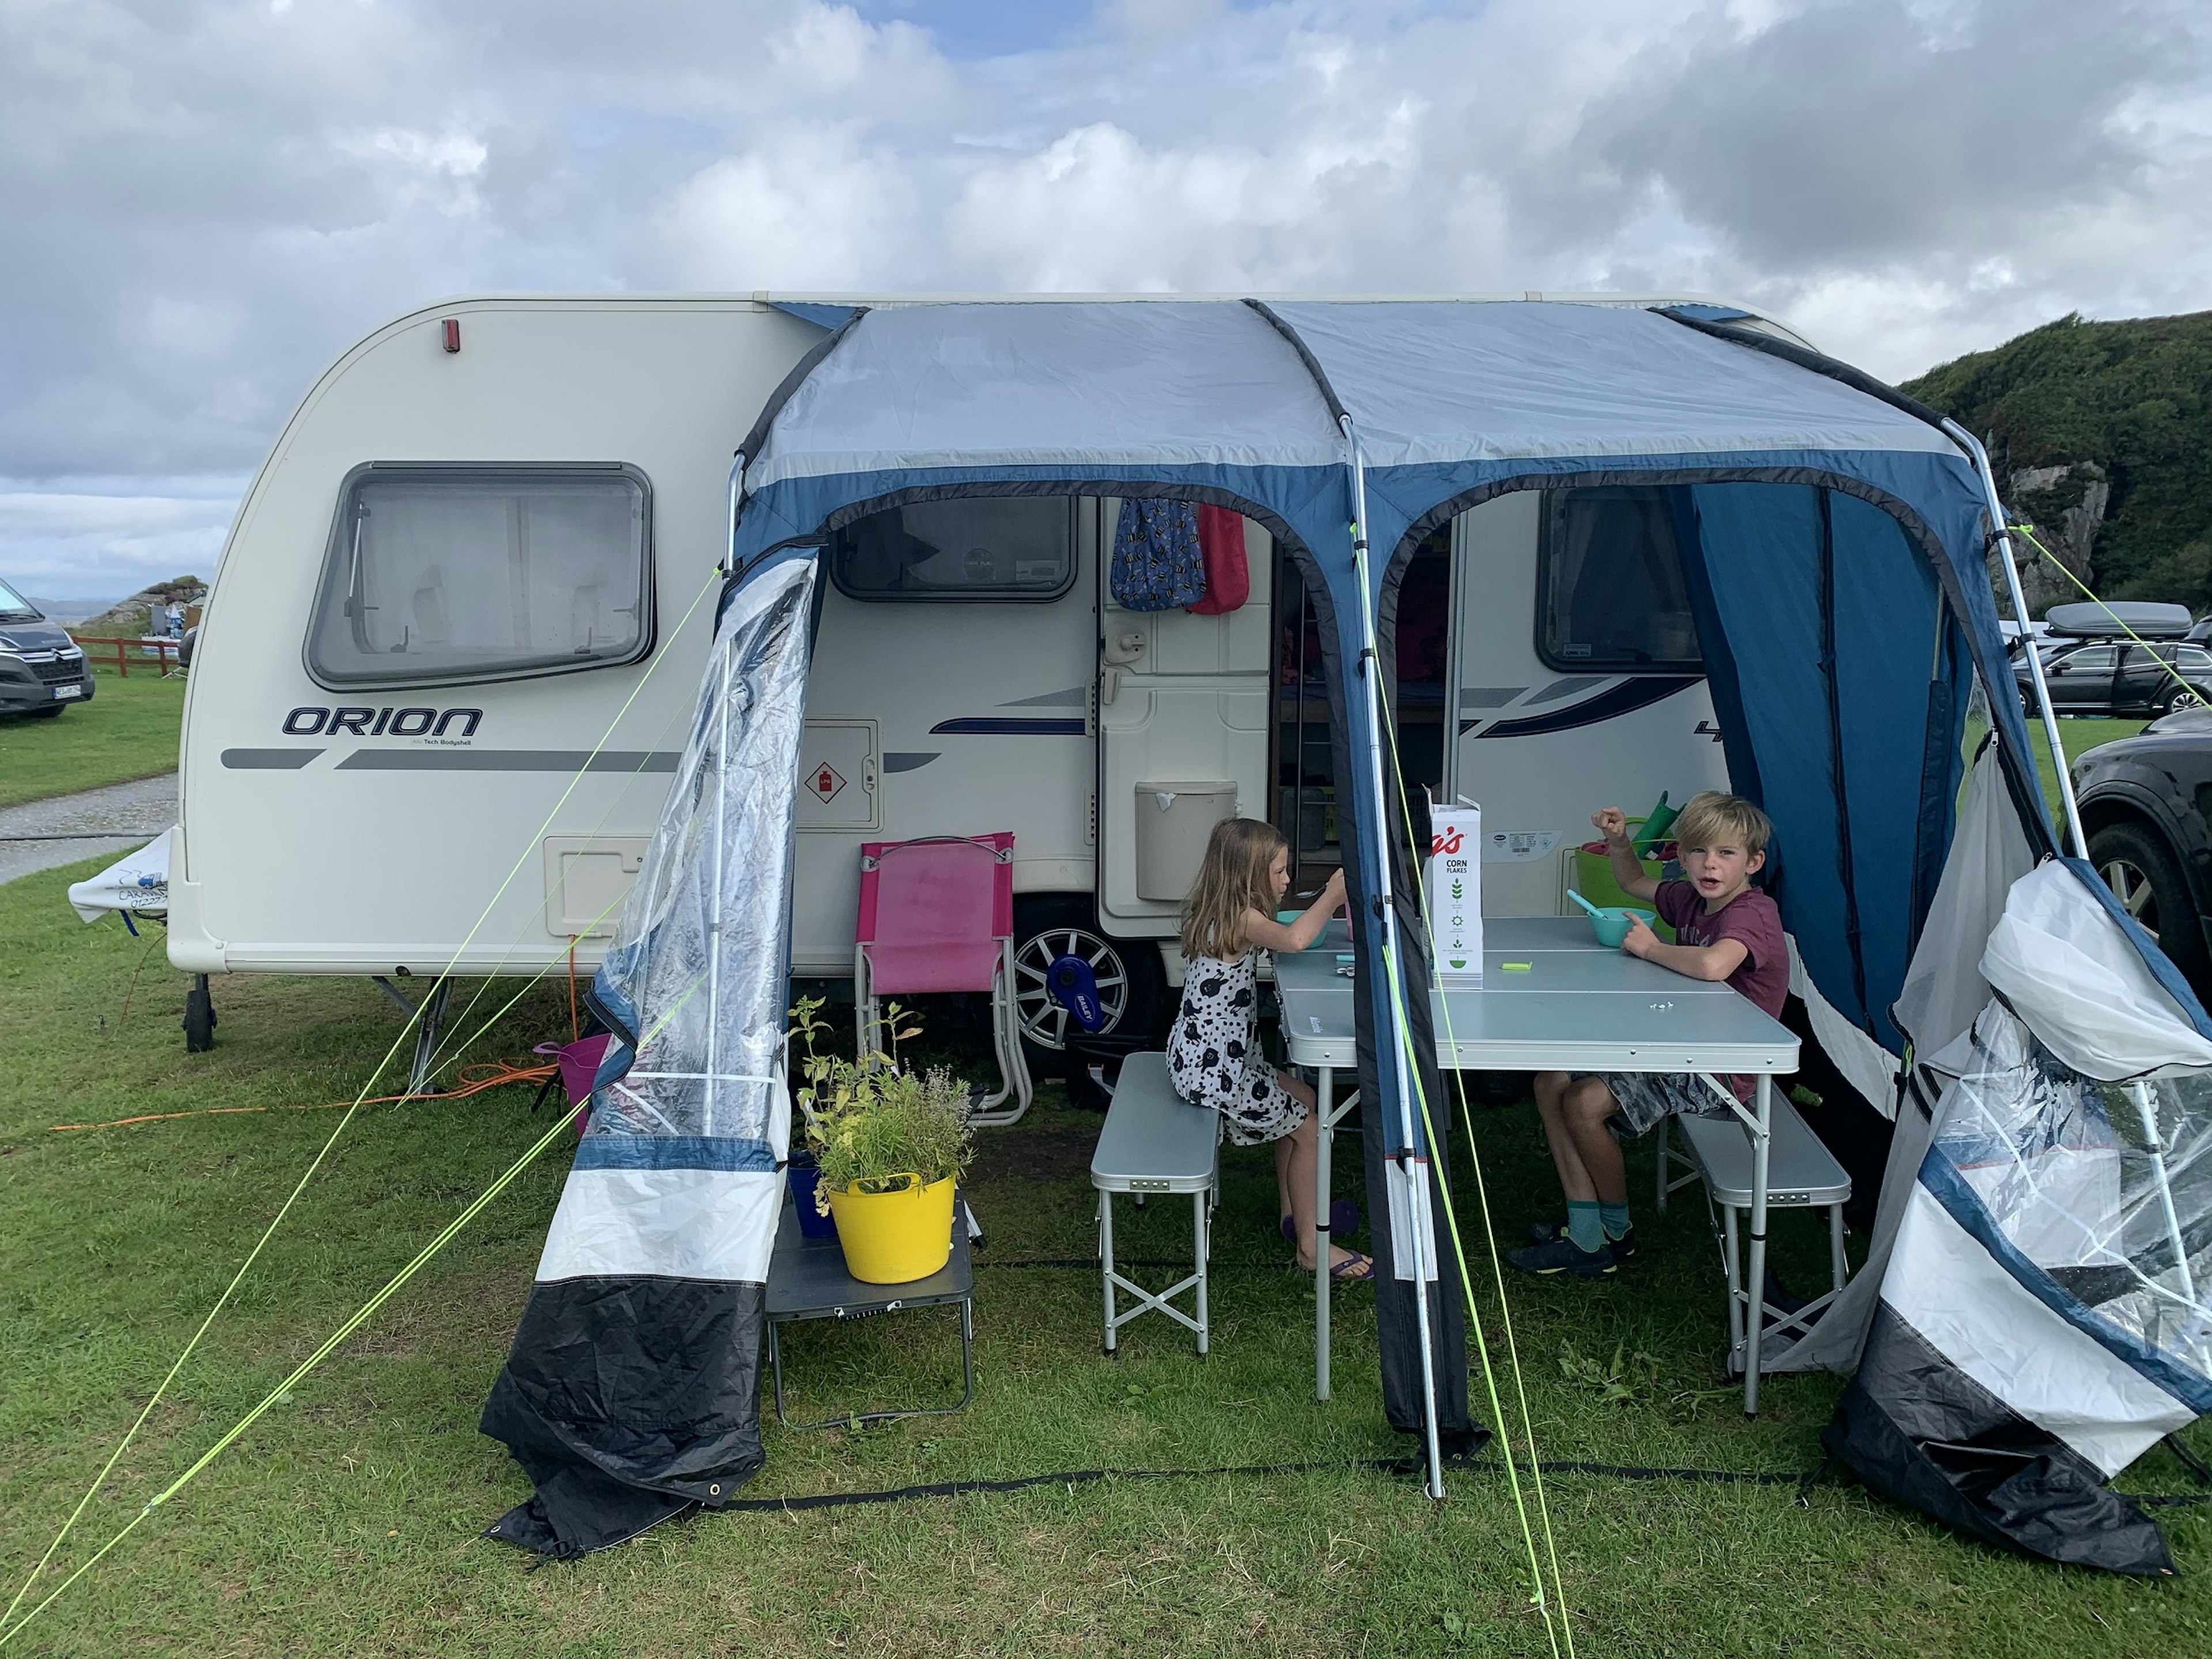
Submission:
M 1721 1088 L 1708 1079 L 1708 1086 Z M 1730 1097 L 1732 1102 L 1734 1097 Z M 1677 1152 L 1672 1137 L 1681 1135 L 1688 1152 Z M 1756 1294 L 1756 1316 L 1763 1352 L 1776 1352 L 1783 1343 L 1807 1334 L 1814 1321 L 1836 1301 L 1849 1265 L 1843 1254 L 1843 1206 L 1851 1197 L 1851 1177 L 1836 1161 L 1820 1137 L 1812 1133 L 1787 1095 L 1774 1091 L 1767 1113 L 1767 1212 L 1774 1210 L 1827 1210 L 1827 1254 L 1829 1290 L 1796 1312 L 1774 1307 L 1765 1298 L 1765 1285 L 1752 1292 L 1743 1283 L 1743 1250 L 1739 1212 L 1752 1208 L 1752 1135 L 1736 1117 L 1668 1117 L 1659 1124 L 1659 1208 L 1677 1188 L 1692 1181 L 1705 1183 L 1705 1194 L 1721 1210 L 1721 1265 L 1728 1274 L 1728 1367 L 1743 1369 L 1747 1321 L 1754 1318 L 1752 1298 Z M 1690 1175 L 1672 1175 L 1688 1168 Z M 1772 1223 L 1770 1223 L 1772 1225 Z M 1774 1343 L 1767 1349 L 1765 1343 Z M 1765 1367 L 1761 1367 L 1765 1369 Z

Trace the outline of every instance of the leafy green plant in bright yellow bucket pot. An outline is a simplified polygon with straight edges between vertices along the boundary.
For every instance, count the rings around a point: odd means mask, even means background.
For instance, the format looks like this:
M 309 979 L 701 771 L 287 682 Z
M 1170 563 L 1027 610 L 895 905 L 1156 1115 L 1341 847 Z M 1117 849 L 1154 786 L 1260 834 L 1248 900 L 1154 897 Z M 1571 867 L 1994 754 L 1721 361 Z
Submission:
M 816 1203 L 836 1217 L 845 1270 L 869 1285 L 927 1279 L 951 1256 L 953 1181 L 973 1150 L 969 1088 L 942 1066 L 900 1066 L 916 1018 L 887 1004 L 889 1053 L 867 1060 L 816 1053 L 830 1029 L 821 998 L 792 1009 L 805 1046 L 799 1108 L 821 1170 Z

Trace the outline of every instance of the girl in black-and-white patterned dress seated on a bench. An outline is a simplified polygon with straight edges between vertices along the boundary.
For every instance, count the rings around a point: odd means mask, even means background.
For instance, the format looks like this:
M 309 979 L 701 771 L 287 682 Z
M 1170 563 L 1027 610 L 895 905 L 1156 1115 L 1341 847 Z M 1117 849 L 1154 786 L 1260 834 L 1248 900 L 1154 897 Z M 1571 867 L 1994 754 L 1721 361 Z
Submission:
M 1303 951 L 1345 902 L 1334 872 L 1307 911 L 1274 920 L 1290 891 L 1290 843 L 1274 825 L 1223 818 L 1183 900 L 1183 1006 L 1168 1037 L 1175 1091 L 1221 1113 L 1232 1146 L 1274 1141 L 1281 1214 L 1294 1221 L 1298 1265 L 1314 1270 L 1314 1091 L 1259 1048 L 1259 953 Z M 1374 1259 L 1329 1245 L 1332 1279 L 1374 1279 Z

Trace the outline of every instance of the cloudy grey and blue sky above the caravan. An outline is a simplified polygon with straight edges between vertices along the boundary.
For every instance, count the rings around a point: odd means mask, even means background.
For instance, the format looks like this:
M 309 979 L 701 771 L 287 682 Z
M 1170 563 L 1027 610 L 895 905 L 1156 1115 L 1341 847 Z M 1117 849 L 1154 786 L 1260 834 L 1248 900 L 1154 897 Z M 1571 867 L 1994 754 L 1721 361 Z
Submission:
M 0 575 L 208 575 L 482 290 L 1712 292 L 1909 378 L 2212 307 L 2201 0 L 0 0 Z

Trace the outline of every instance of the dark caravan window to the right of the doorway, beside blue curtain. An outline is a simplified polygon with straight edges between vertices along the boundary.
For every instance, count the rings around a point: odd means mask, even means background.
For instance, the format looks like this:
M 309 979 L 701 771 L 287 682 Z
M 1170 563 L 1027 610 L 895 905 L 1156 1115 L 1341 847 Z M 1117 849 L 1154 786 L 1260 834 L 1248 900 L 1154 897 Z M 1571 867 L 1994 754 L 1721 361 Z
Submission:
M 1703 672 L 1666 489 L 1544 493 L 1535 650 L 1582 675 Z

